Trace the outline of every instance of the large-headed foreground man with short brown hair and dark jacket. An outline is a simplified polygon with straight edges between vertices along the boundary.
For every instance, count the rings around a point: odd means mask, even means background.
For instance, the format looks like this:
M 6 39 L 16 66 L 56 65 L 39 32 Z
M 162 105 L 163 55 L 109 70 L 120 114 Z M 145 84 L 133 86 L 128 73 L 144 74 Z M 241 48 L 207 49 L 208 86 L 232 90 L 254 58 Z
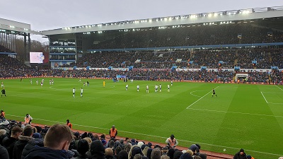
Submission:
M 69 159 L 67 150 L 73 139 L 73 133 L 67 125 L 54 124 L 45 135 L 45 147 L 34 147 L 24 159 Z

